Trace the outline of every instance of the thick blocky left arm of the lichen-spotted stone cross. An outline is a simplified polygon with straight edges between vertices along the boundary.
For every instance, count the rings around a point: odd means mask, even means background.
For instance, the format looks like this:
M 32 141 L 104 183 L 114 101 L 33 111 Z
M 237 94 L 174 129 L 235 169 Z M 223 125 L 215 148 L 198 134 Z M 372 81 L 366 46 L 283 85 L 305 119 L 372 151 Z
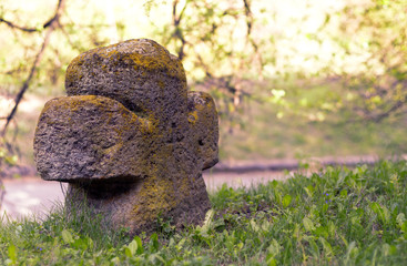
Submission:
M 35 132 L 37 168 L 43 180 L 136 180 L 147 175 L 153 125 L 120 102 L 83 95 L 49 101 Z

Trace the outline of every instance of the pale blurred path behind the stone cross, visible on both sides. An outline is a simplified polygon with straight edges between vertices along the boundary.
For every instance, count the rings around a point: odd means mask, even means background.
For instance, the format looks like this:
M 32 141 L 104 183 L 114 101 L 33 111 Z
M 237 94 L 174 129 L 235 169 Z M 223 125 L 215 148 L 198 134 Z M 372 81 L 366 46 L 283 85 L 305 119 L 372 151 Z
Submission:
M 404 155 L 401 158 L 407 160 Z M 306 162 L 308 170 L 298 168 L 297 160 L 274 160 L 257 162 L 228 162 L 220 163 L 204 172 L 203 177 L 208 191 L 214 191 L 223 184 L 232 187 L 251 187 L 260 183 L 273 180 L 286 180 L 295 172 L 311 173 L 326 165 L 373 164 L 378 161 L 375 156 L 353 156 L 343 158 L 309 158 Z M 283 170 L 288 170 L 283 171 Z M 4 180 L 6 196 L 1 207 L 1 215 L 7 213 L 10 218 L 30 216 L 40 217 L 47 214 L 54 205 L 62 204 L 67 184 L 42 181 L 39 176 L 22 177 L 18 180 Z

